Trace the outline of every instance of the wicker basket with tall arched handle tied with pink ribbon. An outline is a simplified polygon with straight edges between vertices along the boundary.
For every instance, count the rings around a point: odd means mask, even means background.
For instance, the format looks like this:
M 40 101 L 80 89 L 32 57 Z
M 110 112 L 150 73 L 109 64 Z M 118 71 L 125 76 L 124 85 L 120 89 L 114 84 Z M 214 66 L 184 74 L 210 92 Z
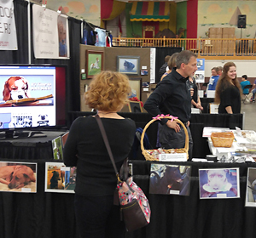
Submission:
M 162 119 L 162 118 L 173 119 L 172 116 L 158 116 L 157 118 L 159 118 L 159 119 Z M 166 154 L 186 153 L 187 154 L 187 160 L 188 160 L 189 159 L 189 134 L 188 134 L 188 130 L 184 126 L 183 122 L 181 122 L 178 119 L 173 119 L 173 120 L 177 121 L 184 128 L 184 132 L 185 132 L 185 136 L 186 136 L 186 138 L 185 138 L 185 147 L 181 148 L 181 149 L 168 149 L 168 150 L 163 150 L 163 151 Z M 146 130 L 155 121 L 158 121 L 158 119 L 152 119 L 151 121 L 148 122 L 148 124 L 143 129 L 143 133 L 142 133 L 142 137 L 141 137 L 141 149 L 142 149 L 142 153 L 143 153 L 143 156 L 145 157 L 146 161 L 158 161 L 158 159 L 156 159 L 154 156 L 152 156 L 152 152 L 157 151 L 157 149 L 155 149 L 155 150 L 145 150 L 144 144 L 143 144 L 143 139 L 144 139 L 144 135 L 146 133 Z

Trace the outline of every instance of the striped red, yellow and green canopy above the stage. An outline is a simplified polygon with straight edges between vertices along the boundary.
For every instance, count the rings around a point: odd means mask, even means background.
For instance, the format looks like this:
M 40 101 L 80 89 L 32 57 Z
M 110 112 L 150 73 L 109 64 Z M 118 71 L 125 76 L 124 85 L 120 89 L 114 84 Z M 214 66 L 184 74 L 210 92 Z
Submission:
M 169 21 L 169 8 L 168 2 L 133 2 L 131 21 Z

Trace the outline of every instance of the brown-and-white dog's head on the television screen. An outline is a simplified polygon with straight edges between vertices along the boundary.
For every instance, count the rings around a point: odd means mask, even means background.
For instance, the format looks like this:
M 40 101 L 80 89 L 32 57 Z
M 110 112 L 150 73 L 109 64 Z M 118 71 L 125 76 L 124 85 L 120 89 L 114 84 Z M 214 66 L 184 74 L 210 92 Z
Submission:
M 9 77 L 4 83 L 3 100 L 18 100 L 29 98 L 28 82 L 24 77 Z

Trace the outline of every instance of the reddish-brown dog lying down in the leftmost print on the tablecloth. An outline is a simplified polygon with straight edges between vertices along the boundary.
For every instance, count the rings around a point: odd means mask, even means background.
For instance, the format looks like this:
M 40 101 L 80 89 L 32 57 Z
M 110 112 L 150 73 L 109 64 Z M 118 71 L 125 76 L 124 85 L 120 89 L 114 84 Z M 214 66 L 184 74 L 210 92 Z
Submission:
M 20 189 L 30 182 L 36 182 L 31 167 L 25 165 L 0 167 L 0 183 L 7 184 L 9 189 Z

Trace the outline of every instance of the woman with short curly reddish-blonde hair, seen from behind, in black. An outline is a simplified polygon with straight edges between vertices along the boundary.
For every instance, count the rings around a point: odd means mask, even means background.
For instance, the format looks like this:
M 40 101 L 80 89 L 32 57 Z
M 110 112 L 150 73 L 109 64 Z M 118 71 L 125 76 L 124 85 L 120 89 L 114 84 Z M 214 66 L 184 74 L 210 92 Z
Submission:
M 135 122 L 117 113 L 128 94 L 128 77 L 113 71 L 96 75 L 85 93 L 85 104 L 102 119 L 118 170 L 136 131 Z M 80 116 L 73 122 L 63 154 L 67 167 L 77 167 L 74 207 L 79 237 L 124 238 L 125 224 L 119 206 L 113 205 L 117 178 L 95 116 Z

